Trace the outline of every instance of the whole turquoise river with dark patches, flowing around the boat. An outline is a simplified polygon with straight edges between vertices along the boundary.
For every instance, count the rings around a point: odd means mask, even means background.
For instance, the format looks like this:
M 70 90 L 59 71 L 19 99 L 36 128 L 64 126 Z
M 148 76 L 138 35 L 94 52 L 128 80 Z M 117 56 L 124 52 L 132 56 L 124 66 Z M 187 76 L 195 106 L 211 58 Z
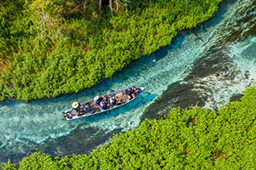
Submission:
M 87 154 L 113 133 L 136 128 L 145 118 L 159 118 L 173 107 L 195 105 L 217 111 L 239 99 L 256 79 L 256 1 L 225 0 L 201 26 L 181 31 L 172 44 L 143 56 L 94 88 L 31 103 L 0 104 L 0 160 L 17 162 L 34 151 L 52 156 Z M 96 95 L 132 85 L 143 94 L 117 110 L 76 122 L 61 112 Z

